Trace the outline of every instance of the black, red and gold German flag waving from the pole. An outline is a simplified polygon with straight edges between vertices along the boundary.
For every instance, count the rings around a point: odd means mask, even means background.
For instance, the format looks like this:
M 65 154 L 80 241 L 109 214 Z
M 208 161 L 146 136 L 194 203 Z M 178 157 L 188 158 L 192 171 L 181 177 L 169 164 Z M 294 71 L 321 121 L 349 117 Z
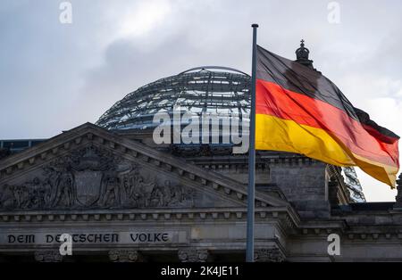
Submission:
M 257 45 L 255 149 L 358 166 L 395 187 L 399 136 L 350 103 L 331 80 Z

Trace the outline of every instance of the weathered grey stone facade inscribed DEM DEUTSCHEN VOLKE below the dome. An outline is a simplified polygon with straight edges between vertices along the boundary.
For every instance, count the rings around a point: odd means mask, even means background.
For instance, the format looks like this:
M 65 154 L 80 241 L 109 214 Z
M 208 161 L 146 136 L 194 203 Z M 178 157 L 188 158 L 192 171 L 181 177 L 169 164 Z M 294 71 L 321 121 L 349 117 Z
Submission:
M 289 153 L 256 162 L 255 261 L 402 260 L 400 179 L 396 204 L 351 203 L 334 167 Z M 0 160 L 0 259 L 243 261 L 245 178 L 247 155 L 84 124 Z

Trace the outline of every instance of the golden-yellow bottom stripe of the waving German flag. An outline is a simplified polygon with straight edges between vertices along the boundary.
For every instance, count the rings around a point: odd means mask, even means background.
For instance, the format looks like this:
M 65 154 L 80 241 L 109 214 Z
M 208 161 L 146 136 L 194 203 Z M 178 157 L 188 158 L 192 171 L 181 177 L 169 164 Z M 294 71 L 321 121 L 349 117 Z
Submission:
M 321 128 L 271 115 L 255 115 L 255 149 L 297 152 L 336 166 L 358 166 L 388 185 L 395 185 L 397 168 L 358 156 Z

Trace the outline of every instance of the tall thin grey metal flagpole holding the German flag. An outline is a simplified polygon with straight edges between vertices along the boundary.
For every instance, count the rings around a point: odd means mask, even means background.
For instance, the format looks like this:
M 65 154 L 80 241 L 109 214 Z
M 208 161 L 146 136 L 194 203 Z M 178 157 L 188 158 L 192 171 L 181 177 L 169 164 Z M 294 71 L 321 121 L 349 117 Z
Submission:
M 253 56 L 251 63 L 251 110 L 248 148 L 248 189 L 247 189 L 247 246 L 246 261 L 254 261 L 254 197 L 255 197 L 255 59 L 256 59 L 256 30 L 258 24 L 252 24 L 253 28 Z

